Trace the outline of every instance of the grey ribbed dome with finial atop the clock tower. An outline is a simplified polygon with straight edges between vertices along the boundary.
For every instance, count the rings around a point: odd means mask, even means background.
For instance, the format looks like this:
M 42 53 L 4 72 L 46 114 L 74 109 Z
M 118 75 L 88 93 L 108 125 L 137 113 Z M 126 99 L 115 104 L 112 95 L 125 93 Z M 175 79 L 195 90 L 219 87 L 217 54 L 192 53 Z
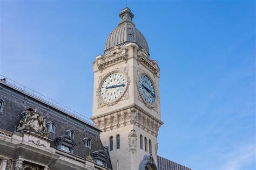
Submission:
M 113 46 L 127 44 L 129 42 L 135 42 L 140 47 L 144 48 L 149 53 L 149 45 L 143 34 L 136 29 L 135 24 L 132 22 L 134 17 L 132 11 L 129 8 L 125 8 L 119 13 L 121 18 L 118 27 L 114 29 L 107 37 L 105 44 L 105 51 Z

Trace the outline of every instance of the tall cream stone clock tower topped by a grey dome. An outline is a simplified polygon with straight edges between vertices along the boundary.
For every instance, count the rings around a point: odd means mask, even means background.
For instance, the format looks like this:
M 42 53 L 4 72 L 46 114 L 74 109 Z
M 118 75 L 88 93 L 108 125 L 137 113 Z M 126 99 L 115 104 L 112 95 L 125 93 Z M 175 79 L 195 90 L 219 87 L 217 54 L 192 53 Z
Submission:
M 102 130 L 114 170 L 157 169 L 160 128 L 159 67 L 143 34 L 123 9 L 107 37 L 104 55 L 93 62 L 92 121 Z

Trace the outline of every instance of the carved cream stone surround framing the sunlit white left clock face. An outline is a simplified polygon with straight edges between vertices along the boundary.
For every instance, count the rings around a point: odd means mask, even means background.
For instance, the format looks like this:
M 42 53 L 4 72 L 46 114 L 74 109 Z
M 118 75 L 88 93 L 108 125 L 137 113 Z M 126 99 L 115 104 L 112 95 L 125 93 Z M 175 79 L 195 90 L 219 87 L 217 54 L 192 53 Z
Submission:
M 121 73 L 124 78 L 125 78 L 125 89 L 123 91 L 123 93 L 118 96 L 115 100 L 112 100 L 110 102 L 106 102 L 103 100 L 102 96 L 100 95 L 100 88 L 102 87 L 102 84 L 104 82 L 104 80 L 113 73 Z M 110 105 L 114 105 L 116 103 L 118 103 L 118 101 L 122 101 L 122 100 L 126 100 L 129 98 L 129 91 L 128 91 L 128 86 L 130 84 L 130 77 L 128 76 L 128 69 L 127 67 L 122 67 L 122 68 L 117 68 L 117 69 L 112 69 L 111 71 L 99 76 L 99 80 L 98 80 L 98 88 L 96 90 L 96 96 L 97 96 L 97 100 L 98 100 L 98 108 L 102 108 L 105 105 L 110 106 Z

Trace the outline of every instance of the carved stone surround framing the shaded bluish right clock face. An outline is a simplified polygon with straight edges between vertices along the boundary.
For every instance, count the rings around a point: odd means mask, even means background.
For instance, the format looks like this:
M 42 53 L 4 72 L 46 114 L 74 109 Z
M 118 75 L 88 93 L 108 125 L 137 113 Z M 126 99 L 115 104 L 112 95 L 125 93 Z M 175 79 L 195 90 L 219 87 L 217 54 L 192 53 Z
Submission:
M 139 79 L 140 79 L 140 76 L 142 76 L 143 74 L 145 74 L 147 77 L 149 77 L 149 79 L 151 80 L 153 86 L 154 86 L 154 91 L 156 93 L 156 98 L 154 100 L 154 103 L 147 103 L 144 98 L 142 97 L 142 95 L 139 93 Z M 137 81 L 136 81 L 136 86 L 137 86 L 137 93 L 139 94 L 139 101 L 143 102 L 146 107 L 150 108 L 150 109 L 153 109 L 154 111 L 157 111 L 157 108 L 158 108 L 158 103 L 159 103 L 159 93 L 158 93 L 158 86 L 157 86 L 157 82 L 156 80 L 154 80 L 149 74 L 147 74 L 147 72 L 145 72 L 144 70 L 142 69 L 138 69 L 137 70 Z

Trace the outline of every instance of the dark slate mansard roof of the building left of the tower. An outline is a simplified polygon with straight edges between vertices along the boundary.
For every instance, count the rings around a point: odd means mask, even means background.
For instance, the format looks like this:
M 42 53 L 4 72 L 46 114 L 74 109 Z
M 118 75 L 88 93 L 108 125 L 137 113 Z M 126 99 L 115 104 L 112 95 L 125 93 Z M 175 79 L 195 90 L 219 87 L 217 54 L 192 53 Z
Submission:
M 3 112 L 0 114 L 0 129 L 10 132 L 10 135 L 18 133 L 16 128 L 19 125 L 21 113 L 26 109 L 35 109 L 37 107 L 38 114 L 44 116 L 46 122 L 54 121 L 56 123 L 55 132 L 48 132 L 52 148 L 56 148 L 56 138 L 65 135 L 68 130 L 73 130 L 75 132 L 74 139 L 77 144 L 73 148 L 72 155 L 85 159 L 89 152 L 105 150 L 100 140 L 100 130 L 95 126 L 80 121 L 65 112 L 51 107 L 51 105 L 38 101 L 33 96 L 23 93 L 23 91 L 19 91 L 4 82 L 0 82 L 0 100 L 4 102 Z M 83 139 L 86 137 L 92 139 L 91 148 L 84 145 Z M 110 161 L 107 162 L 107 166 L 111 168 Z

